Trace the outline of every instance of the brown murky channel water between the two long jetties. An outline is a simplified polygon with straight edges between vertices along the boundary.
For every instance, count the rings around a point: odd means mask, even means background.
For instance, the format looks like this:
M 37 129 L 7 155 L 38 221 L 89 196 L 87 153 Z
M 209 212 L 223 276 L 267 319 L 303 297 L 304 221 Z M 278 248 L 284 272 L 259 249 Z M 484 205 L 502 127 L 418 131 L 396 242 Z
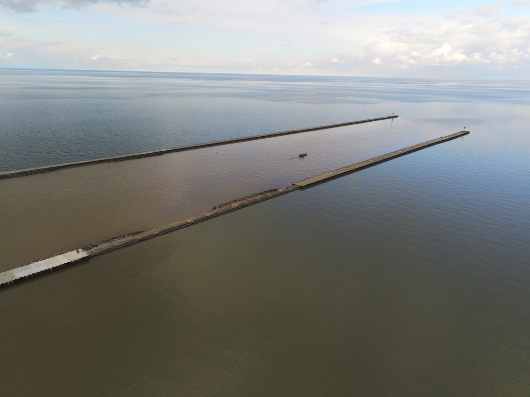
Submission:
M 419 142 L 399 139 L 392 125 L 380 121 L 0 180 L 0 270 L 160 227 Z M 302 151 L 309 155 L 298 158 Z

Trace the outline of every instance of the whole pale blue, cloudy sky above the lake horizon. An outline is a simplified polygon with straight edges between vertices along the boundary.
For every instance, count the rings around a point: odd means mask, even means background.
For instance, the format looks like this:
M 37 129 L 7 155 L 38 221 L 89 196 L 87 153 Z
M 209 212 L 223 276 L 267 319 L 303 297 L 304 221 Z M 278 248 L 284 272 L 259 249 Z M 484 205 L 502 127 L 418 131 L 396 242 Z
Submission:
M 530 78 L 530 0 L 0 0 L 0 68 Z

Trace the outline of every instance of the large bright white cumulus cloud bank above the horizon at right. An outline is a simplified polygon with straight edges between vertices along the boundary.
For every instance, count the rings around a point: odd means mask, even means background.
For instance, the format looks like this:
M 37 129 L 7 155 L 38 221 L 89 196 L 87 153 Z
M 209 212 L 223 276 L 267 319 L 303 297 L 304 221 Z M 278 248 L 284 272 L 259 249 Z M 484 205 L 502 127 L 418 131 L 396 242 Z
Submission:
M 424 20 L 410 28 L 387 30 L 362 46 L 372 64 L 382 62 L 399 69 L 457 65 L 528 68 L 530 18 L 504 16 L 503 7 L 505 3 L 460 10 L 443 23 Z

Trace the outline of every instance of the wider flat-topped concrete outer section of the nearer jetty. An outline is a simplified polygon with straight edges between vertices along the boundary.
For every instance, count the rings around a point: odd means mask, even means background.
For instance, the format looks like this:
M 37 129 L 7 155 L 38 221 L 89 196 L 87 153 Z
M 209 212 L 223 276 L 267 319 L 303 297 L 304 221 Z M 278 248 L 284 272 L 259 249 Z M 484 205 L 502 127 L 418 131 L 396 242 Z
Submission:
M 446 142 L 458 137 L 462 137 L 464 135 L 469 134 L 469 131 L 460 131 L 455 132 L 454 134 L 447 135 L 445 137 L 440 137 L 437 139 L 431 139 L 427 142 L 418 143 L 417 145 L 409 146 L 407 148 L 401 149 L 401 150 L 395 150 L 393 152 L 387 153 L 386 155 L 377 156 L 368 160 L 360 161 L 359 163 L 355 163 L 346 167 L 342 167 L 339 169 L 335 169 L 333 171 L 315 175 L 311 178 L 303 179 L 302 181 L 295 182 L 294 185 L 299 187 L 306 187 L 310 185 L 314 185 L 316 183 L 321 183 L 328 181 L 328 179 L 337 178 L 339 176 L 342 176 L 344 174 L 349 174 L 352 172 L 359 171 L 361 169 L 365 169 L 368 167 L 375 166 L 377 164 L 384 163 L 385 161 L 392 160 L 396 157 L 401 157 L 404 155 L 408 155 L 409 153 L 412 153 L 417 150 L 428 148 L 429 146 L 437 145 L 438 143 Z

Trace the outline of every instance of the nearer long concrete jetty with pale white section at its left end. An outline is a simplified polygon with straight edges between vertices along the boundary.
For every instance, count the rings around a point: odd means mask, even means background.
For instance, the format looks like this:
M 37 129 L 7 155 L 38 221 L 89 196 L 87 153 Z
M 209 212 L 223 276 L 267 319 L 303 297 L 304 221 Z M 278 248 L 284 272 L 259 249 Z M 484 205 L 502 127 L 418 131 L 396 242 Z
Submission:
M 418 143 L 417 145 L 409 146 L 401 150 L 395 150 L 385 155 L 360 161 L 359 163 L 355 163 L 347 167 L 338 168 L 324 174 L 315 175 L 313 177 L 303 179 L 302 181 L 295 182 L 288 187 L 272 189 L 261 193 L 252 194 L 247 197 L 239 198 L 228 203 L 220 204 L 211 209 L 211 211 L 202 213 L 200 215 L 191 216 L 190 218 L 177 221 L 160 228 L 148 231 L 137 231 L 133 233 L 128 233 L 123 236 L 101 241 L 99 243 L 95 243 L 83 248 L 64 252 L 63 254 L 59 254 L 51 258 L 42 259 L 27 265 L 22 265 L 15 269 L 7 270 L 6 272 L 0 273 L 0 288 L 22 282 L 24 280 L 36 277 L 41 274 L 53 272 L 54 270 L 73 265 L 83 260 L 90 259 L 93 256 L 101 255 L 105 252 L 110 252 L 118 248 L 126 247 L 128 245 L 147 240 L 156 236 L 160 236 L 161 234 L 169 233 L 174 230 L 179 230 L 188 227 L 192 224 L 206 221 L 208 219 L 215 218 L 216 216 L 223 215 L 225 213 L 232 212 L 252 204 L 257 204 L 282 194 L 293 192 L 304 187 L 311 187 L 316 184 L 330 181 L 331 179 L 346 174 L 357 172 L 361 169 L 373 167 L 377 164 L 384 163 L 385 161 L 389 161 L 394 158 L 410 154 L 414 151 L 437 145 L 438 143 L 447 142 L 452 139 L 463 137 L 467 134 L 469 134 L 469 131 L 460 131 L 451 135 L 447 135 L 445 137 L 440 137 L 423 143 Z

